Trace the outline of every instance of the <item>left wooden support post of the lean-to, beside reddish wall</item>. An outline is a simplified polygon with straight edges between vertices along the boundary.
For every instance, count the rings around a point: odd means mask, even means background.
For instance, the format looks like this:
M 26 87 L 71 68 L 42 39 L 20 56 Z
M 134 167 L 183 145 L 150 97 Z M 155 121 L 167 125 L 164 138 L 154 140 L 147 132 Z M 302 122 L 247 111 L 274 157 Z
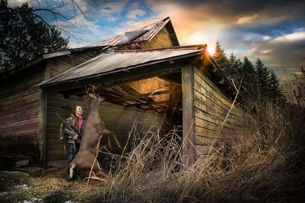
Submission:
M 46 167 L 46 146 L 47 146 L 47 94 L 41 91 L 39 107 L 39 128 L 38 128 L 38 159 L 39 165 Z

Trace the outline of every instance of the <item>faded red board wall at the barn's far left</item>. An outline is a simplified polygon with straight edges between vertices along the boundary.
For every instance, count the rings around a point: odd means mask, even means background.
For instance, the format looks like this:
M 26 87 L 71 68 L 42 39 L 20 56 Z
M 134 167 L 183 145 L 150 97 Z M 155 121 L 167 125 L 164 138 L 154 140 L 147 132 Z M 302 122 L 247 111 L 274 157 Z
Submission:
M 37 135 L 44 63 L 1 81 L 0 151 L 37 155 Z

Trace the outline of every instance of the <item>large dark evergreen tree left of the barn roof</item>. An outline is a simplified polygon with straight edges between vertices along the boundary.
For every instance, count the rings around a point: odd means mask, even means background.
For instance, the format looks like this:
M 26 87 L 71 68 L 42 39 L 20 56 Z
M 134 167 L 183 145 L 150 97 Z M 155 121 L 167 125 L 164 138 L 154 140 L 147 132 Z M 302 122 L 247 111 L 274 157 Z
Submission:
M 7 7 L 6 0 L 0 3 L 0 71 L 14 68 L 38 54 L 68 48 L 69 38 L 63 39 L 58 30 L 38 21 L 37 17 L 30 14 L 33 7 L 29 7 L 28 3 L 16 7 L 23 12 L 23 17 L 3 9 Z

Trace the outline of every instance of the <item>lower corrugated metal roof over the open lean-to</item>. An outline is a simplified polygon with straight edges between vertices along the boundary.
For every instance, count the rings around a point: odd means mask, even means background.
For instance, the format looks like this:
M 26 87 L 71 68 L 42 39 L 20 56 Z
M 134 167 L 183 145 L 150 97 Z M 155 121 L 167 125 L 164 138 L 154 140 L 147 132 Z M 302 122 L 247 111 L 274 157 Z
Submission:
M 52 83 L 88 78 L 88 76 L 101 75 L 117 69 L 126 69 L 158 63 L 164 60 L 184 58 L 202 53 L 203 45 L 189 45 L 180 47 L 165 47 L 143 50 L 107 51 L 92 58 L 70 70 L 63 72 L 37 86 Z

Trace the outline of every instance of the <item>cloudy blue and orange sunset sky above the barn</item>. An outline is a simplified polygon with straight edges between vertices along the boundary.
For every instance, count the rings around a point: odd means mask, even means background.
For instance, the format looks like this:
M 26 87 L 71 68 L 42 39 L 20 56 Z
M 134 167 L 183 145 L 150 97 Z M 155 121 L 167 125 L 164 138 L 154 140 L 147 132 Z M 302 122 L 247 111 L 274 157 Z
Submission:
M 21 5 L 23 0 L 9 0 L 9 6 Z M 46 0 L 27 1 L 34 8 L 47 7 Z M 61 0 L 48 0 L 59 5 Z M 60 12 L 73 14 L 69 0 Z M 135 30 L 170 17 L 180 45 L 207 44 L 213 54 L 219 41 L 229 56 L 245 56 L 255 64 L 264 61 L 279 78 L 287 72 L 300 72 L 305 66 L 305 1 L 205 1 L 205 0 L 107 0 L 91 2 L 76 0 L 86 16 L 96 23 L 88 23 L 83 16 L 57 21 L 52 15 L 40 12 L 52 25 L 65 26 L 63 37 L 70 37 L 69 47 L 83 47 L 100 40 Z M 76 24 L 75 24 L 76 23 Z

